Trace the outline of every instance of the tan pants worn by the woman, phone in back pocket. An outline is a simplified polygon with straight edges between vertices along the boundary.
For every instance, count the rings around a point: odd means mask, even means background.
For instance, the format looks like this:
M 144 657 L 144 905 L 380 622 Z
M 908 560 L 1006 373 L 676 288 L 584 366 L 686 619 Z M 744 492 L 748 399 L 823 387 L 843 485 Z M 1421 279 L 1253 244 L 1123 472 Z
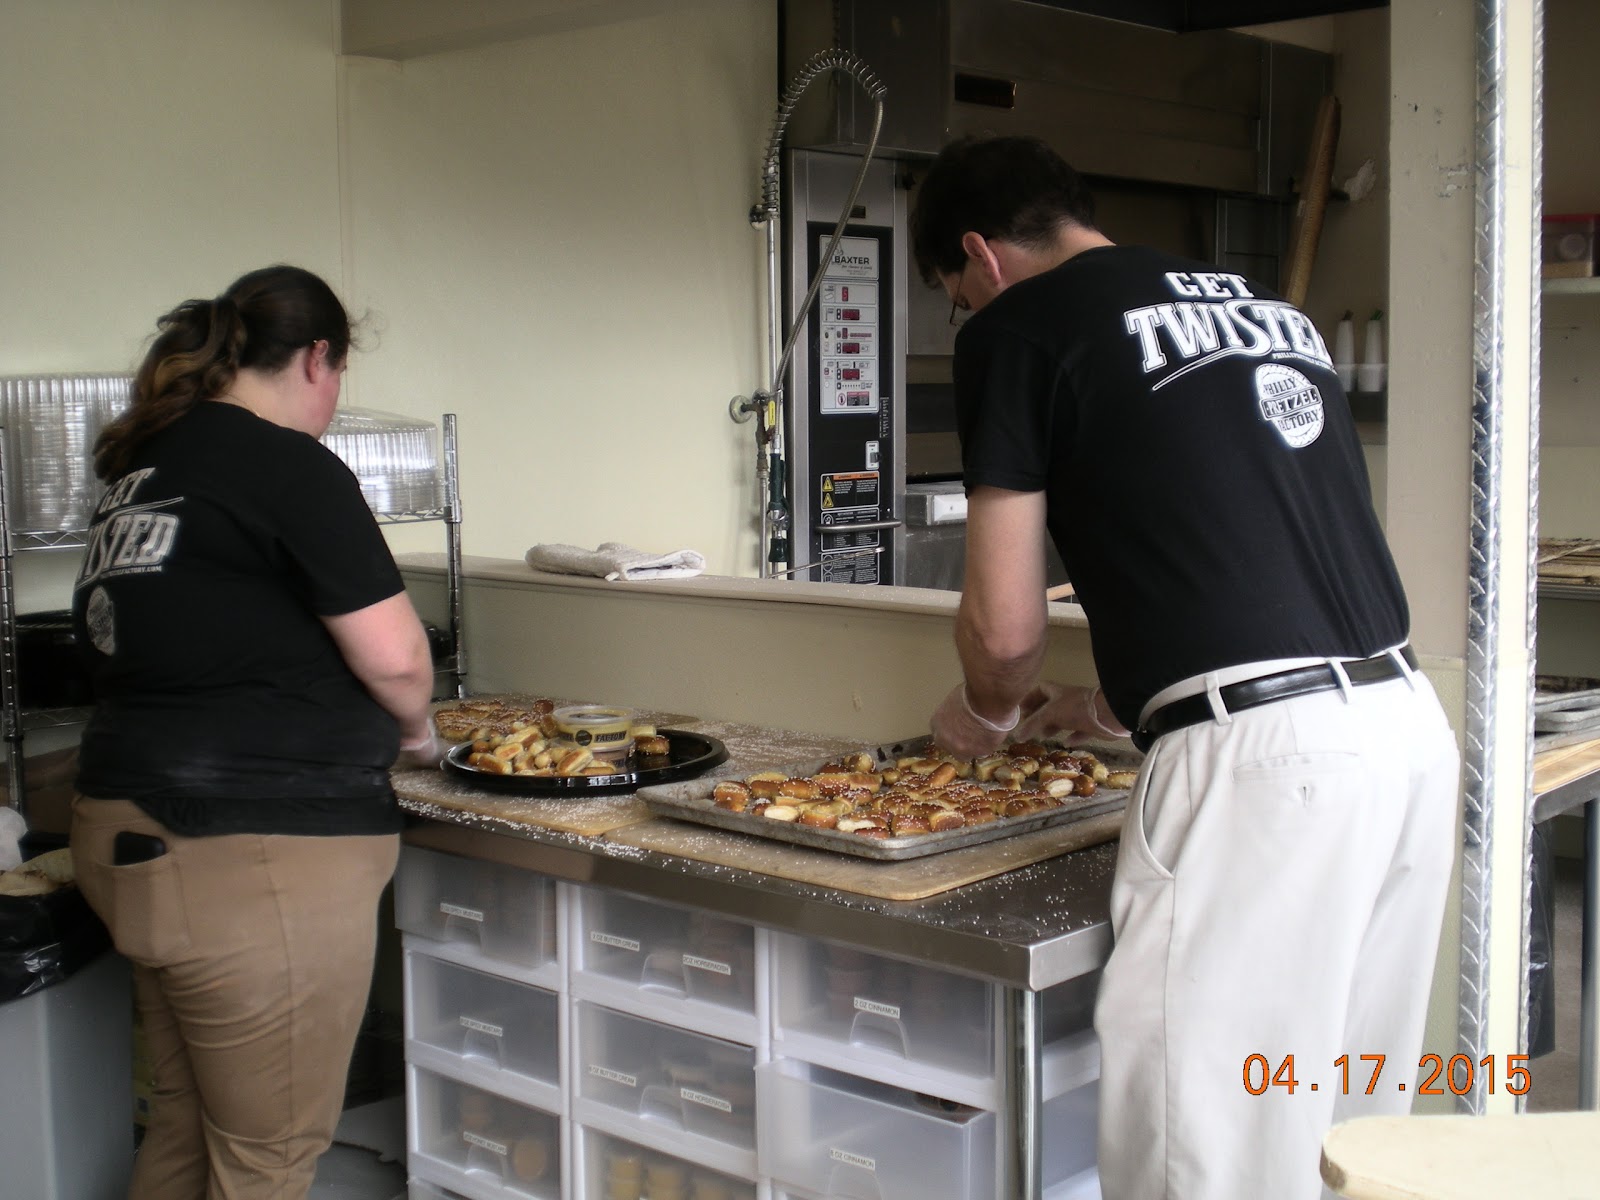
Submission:
M 112 866 L 112 838 L 168 853 Z M 78 797 L 78 886 L 134 963 L 155 1093 L 130 1200 L 302 1200 L 333 1139 L 400 838 L 179 837 Z

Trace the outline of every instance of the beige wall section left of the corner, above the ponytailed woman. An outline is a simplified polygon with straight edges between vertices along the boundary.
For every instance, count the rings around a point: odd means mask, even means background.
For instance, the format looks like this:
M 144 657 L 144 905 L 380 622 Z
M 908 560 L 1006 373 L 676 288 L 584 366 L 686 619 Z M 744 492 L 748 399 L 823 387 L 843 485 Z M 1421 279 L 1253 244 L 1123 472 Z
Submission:
M 291 261 L 339 285 L 338 0 L 0 0 L 0 374 L 130 371 Z M 16 560 L 66 603 L 74 554 Z

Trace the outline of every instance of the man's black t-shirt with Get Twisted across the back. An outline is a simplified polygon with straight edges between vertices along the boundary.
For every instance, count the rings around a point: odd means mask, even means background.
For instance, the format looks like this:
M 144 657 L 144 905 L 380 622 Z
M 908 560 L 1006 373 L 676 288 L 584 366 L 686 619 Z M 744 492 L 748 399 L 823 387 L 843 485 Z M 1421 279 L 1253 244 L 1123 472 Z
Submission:
M 955 398 L 966 486 L 1048 494 L 1130 728 L 1205 670 L 1405 638 L 1328 349 L 1242 275 L 1144 246 L 1080 253 L 966 322 Z

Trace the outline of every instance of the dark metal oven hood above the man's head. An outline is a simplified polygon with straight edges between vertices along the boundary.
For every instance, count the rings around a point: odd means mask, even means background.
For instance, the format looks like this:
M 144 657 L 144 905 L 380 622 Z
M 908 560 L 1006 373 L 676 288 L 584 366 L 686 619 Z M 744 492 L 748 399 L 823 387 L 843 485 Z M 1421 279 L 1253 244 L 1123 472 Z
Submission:
M 888 86 L 880 150 L 1030 134 L 1086 174 L 1288 198 L 1331 58 L 1227 30 L 1173 34 L 1029 0 L 789 0 L 784 66 L 838 45 Z M 870 106 L 818 88 L 790 144 L 859 149 Z

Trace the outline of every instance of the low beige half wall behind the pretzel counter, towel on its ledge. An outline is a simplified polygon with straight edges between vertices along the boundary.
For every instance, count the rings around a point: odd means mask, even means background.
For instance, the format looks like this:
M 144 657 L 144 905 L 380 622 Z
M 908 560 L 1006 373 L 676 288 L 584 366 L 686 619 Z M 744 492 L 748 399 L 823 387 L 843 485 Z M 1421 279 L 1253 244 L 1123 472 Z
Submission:
M 443 587 L 424 555 L 424 613 Z M 472 691 L 531 691 L 885 742 L 926 733 L 962 677 L 954 592 L 770 579 L 606 584 L 469 560 Z M 1053 605 L 1045 675 L 1094 680 L 1075 605 Z

